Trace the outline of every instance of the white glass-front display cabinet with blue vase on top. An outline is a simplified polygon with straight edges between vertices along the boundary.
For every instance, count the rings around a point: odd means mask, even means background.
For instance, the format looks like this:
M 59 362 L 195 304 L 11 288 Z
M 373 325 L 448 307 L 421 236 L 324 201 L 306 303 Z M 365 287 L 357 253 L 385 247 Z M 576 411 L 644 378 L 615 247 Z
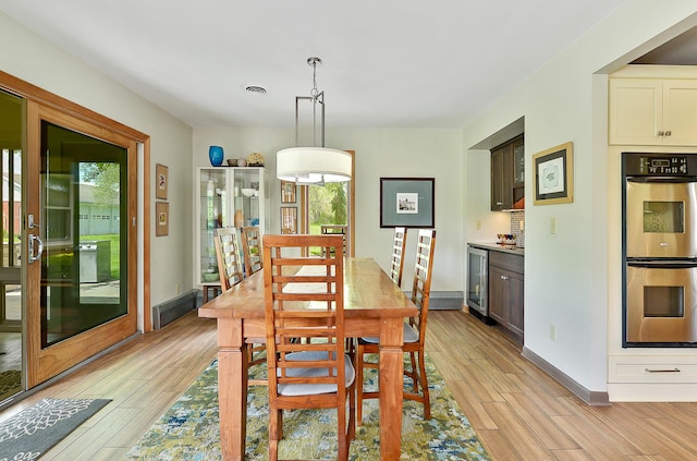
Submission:
M 261 167 L 198 168 L 194 181 L 194 286 L 219 286 L 213 246 L 217 228 L 270 226 L 269 172 Z M 241 238 L 239 235 L 239 238 Z M 237 242 L 242 247 L 242 242 Z

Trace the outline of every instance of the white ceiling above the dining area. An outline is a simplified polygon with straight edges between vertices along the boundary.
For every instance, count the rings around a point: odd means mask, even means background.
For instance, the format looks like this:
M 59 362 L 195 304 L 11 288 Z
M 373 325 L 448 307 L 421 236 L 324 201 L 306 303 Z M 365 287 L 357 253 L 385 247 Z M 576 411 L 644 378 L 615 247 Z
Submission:
M 0 0 L 192 126 L 462 128 L 625 0 Z M 267 89 L 244 90 L 246 84 Z

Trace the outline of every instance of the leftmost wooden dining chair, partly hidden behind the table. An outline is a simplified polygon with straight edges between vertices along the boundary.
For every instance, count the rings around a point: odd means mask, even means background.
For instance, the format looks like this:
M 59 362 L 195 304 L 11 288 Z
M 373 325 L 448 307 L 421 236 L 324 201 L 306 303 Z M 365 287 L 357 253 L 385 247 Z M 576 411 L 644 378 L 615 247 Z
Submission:
M 220 228 L 213 231 L 213 246 L 218 259 L 218 272 L 220 274 L 220 288 L 222 291 L 230 290 L 243 279 L 242 257 L 237 244 L 237 229 L 234 227 Z M 266 363 L 264 352 L 266 350 L 266 338 L 246 338 L 249 366 Z M 249 379 L 250 385 L 266 386 L 266 379 Z

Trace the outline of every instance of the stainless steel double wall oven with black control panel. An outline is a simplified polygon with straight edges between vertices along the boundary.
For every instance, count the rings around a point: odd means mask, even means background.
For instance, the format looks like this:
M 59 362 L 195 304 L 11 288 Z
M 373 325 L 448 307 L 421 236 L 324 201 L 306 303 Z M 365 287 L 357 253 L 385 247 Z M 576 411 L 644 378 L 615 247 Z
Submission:
M 622 154 L 623 347 L 697 345 L 697 154 Z

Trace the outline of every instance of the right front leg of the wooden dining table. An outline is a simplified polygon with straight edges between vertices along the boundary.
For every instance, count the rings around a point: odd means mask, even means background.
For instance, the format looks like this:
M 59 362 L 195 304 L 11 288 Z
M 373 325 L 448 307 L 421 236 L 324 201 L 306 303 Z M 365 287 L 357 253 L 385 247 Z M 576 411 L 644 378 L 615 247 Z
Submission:
M 399 460 L 402 451 L 404 329 L 402 318 L 384 318 L 380 329 L 380 459 Z

